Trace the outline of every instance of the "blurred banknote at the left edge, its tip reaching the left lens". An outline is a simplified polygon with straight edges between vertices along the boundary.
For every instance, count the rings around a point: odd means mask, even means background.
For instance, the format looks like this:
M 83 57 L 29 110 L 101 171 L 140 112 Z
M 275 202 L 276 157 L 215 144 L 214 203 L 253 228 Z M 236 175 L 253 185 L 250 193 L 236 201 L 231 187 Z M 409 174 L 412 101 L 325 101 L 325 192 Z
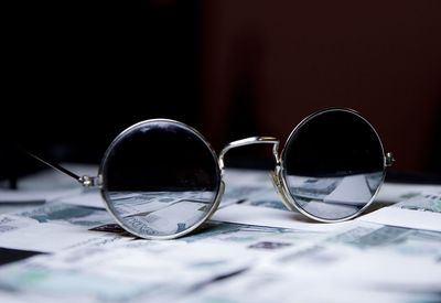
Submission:
M 127 234 L 94 231 L 109 223 L 114 219 L 101 208 L 53 202 L 0 215 L 0 247 L 55 252 L 129 238 Z

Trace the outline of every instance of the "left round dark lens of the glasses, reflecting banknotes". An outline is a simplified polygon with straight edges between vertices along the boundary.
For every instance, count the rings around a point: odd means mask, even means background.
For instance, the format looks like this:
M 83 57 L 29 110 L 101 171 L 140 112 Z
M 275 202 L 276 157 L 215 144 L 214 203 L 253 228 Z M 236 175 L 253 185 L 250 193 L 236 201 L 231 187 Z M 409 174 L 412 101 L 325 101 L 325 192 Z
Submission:
M 216 155 L 192 128 L 148 120 L 125 130 L 107 150 L 101 194 L 117 221 L 148 239 L 185 235 L 218 204 Z

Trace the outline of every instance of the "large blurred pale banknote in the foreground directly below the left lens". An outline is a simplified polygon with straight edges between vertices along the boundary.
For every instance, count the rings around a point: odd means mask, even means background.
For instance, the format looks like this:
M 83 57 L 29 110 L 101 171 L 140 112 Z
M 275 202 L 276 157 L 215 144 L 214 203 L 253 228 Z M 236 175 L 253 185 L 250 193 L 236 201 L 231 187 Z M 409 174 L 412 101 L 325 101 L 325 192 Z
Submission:
M 24 297 L 45 294 L 49 301 L 61 296 L 92 297 L 92 302 L 179 301 L 216 281 L 240 275 L 262 256 L 315 236 L 213 221 L 180 240 L 88 246 L 0 268 L 0 289 Z

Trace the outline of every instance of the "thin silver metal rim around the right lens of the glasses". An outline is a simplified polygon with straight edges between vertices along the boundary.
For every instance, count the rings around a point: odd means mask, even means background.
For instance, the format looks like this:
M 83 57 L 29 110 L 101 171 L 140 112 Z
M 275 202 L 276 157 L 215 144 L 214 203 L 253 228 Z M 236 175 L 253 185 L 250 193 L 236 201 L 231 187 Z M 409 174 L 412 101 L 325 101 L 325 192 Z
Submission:
M 344 111 L 344 112 L 348 112 L 352 113 L 358 118 L 361 118 L 362 120 L 364 120 L 374 131 L 374 133 L 376 134 L 379 145 L 381 148 L 381 152 L 383 152 L 383 176 L 381 176 L 381 181 L 379 183 L 378 188 L 375 191 L 374 195 L 372 196 L 370 201 L 368 203 L 366 203 L 365 206 L 363 206 L 361 209 L 358 209 L 358 212 L 354 213 L 351 216 L 344 217 L 344 218 L 340 218 L 340 219 L 325 219 L 325 218 L 321 218 L 318 216 L 314 216 L 310 213 L 308 213 L 306 210 L 304 210 L 300 204 L 295 201 L 295 198 L 291 195 L 291 193 L 289 192 L 288 188 L 288 184 L 287 184 L 287 180 L 284 177 L 284 172 L 286 172 L 286 166 L 284 166 L 284 156 L 286 156 L 286 151 L 287 151 L 287 145 L 288 142 L 290 142 L 290 140 L 295 136 L 295 133 L 306 123 L 309 122 L 311 119 L 323 115 L 325 112 L 331 112 L 331 111 Z M 385 149 L 381 142 L 381 139 L 379 138 L 378 132 L 375 130 L 375 128 L 373 127 L 373 125 L 366 119 L 364 118 L 362 115 L 359 115 L 357 111 L 349 109 L 349 108 L 327 108 L 327 109 L 323 109 L 323 110 L 319 110 L 313 112 L 312 115 L 308 116 L 306 118 L 304 118 L 299 125 L 295 126 L 295 128 L 291 131 L 290 136 L 288 137 L 284 145 L 283 145 L 283 150 L 280 154 L 280 165 L 278 165 L 278 167 L 276 169 L 276 175 L 279 178 L 279 184 L 281 184 L 281 194 L 283 195 L 283 198 L 293 206 L 293 208 L 295 208 L 297 210 L 299 210 L 301 214 L 305 215 L 306 217 L 318 220 L 318 221 L 323 221 L 323 223 L 337 223 L 337 221 L 345 221 L 348 219 L 352 219 L 356 216 L 358 216 L 359 214 L 362 214 L 367 207 L 369 207 L 369 205 L 374 202 L 375 197 L 377 196 L 379 188 L 381 187 L 385 176 L 386 176 L 386 161 L 385 161 L 386 156 L 385 156 Z

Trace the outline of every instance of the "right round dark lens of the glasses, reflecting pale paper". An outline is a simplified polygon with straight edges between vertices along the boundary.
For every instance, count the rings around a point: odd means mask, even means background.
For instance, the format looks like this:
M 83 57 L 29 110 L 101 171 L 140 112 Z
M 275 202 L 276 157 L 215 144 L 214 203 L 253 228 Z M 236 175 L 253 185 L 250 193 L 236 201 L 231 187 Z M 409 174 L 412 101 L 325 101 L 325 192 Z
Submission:
M 348 219 L 374 199 L 385 176 L 381 141 L 355 111 L 329 109 L 303 120 L 281 155 L 297 208 L 323 221 Z

